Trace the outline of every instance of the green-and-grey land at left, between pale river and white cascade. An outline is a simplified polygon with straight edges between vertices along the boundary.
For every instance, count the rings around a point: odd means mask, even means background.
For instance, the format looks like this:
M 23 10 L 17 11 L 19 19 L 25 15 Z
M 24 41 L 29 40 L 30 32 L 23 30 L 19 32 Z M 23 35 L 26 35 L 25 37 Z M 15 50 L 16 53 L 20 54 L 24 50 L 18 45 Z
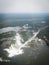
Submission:
M 10 32 L 0 34 L 0 48 L 2 44 L 4 45 L 3 48 L 9 48 L 11 44 L 15 44 L 16 40 L 10 39 L 10 37 L 14 37 L 15 35 L 16 35 L 15 31 L 10 31 Z

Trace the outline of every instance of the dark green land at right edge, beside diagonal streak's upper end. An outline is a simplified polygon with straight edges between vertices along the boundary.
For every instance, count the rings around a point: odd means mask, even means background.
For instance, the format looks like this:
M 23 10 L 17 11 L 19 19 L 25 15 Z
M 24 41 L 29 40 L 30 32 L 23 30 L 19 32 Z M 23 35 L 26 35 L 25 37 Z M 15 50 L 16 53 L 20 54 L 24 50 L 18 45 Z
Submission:
M 49 27 L 47 27 L 44 30 L 40 31 L 40 33 L 37 36 L 39 38 L 45 40 L 46 44 L 49 46 Z

